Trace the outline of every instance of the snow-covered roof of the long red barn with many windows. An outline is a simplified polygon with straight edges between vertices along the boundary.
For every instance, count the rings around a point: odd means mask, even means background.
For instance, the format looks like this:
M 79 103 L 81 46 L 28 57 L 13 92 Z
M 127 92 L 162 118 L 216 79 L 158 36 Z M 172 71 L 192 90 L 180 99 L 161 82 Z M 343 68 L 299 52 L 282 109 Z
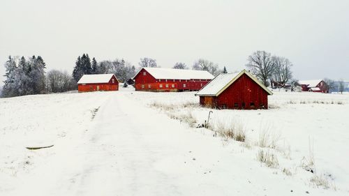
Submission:
M 147 70 L 155 79 L 211 80 L 214 78 L 214 76 L 206 70 L 181 70 L 172 68 L 144 68 L 144 70 Z M 136 75 L 138 75 L 138 73 Z M 134 78 L 135 77 L 133 77 L 133 79 Z

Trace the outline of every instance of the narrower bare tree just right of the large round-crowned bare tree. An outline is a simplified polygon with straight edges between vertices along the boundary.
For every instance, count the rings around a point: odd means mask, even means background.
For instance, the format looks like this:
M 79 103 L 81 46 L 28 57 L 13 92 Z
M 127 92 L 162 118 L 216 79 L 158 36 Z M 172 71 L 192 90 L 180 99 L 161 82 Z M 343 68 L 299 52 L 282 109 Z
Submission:
M 274 73 L 272 73 L 272 83 L 285 87 L 285 84 L 292 79 L 292 63 L 282 56 L 273 56 L 275 63 Z M 272 84 L 273 85 L 273 84 Z

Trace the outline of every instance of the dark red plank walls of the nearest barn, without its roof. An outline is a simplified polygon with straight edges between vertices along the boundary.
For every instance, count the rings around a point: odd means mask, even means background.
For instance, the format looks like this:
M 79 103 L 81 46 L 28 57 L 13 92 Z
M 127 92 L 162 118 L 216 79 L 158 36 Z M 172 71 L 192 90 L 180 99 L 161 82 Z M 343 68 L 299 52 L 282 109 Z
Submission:
M 220 109 L 267 109 L 268 93 L 248 75 L 244 74 L 218 97 L 211 99 L 201 96 L 200 104 Z

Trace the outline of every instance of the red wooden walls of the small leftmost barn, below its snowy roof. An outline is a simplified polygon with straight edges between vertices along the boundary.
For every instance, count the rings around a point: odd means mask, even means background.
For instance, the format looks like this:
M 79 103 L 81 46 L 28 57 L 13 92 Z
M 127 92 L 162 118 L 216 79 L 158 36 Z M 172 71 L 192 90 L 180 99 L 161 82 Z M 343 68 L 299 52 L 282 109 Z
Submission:
M 112 79 L 114 79 L 114 83 L 112 83 Z M 108 83 L 78 84 L 77 90 L 79 92 L 119 91 L 119 82 L 117 81 L 117 78 L 113 75 Z

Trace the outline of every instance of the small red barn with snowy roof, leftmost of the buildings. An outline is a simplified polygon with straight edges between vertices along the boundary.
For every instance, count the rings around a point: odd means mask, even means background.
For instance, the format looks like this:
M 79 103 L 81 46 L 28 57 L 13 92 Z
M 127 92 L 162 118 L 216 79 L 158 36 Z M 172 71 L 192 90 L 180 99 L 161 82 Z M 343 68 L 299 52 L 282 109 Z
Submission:
M 89 91 L 118 91 L 119 81 L 114 74 L 82 75 L 77 82 L 79 92 Z

